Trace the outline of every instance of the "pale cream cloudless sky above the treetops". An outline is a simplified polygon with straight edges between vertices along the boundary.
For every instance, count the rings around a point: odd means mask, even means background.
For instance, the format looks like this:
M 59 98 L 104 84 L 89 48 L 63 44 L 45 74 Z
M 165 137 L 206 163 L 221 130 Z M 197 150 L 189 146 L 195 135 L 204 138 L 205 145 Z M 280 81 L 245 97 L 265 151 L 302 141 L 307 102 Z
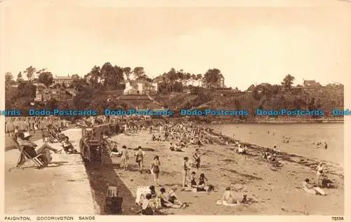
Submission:
M 286 74 L 350 79 L 351 1 L 146 2 L 2 0 L 1 75 L 33 66 L 84 76 L 111 62 L 151 77 L 217 68 L 240 90 Z

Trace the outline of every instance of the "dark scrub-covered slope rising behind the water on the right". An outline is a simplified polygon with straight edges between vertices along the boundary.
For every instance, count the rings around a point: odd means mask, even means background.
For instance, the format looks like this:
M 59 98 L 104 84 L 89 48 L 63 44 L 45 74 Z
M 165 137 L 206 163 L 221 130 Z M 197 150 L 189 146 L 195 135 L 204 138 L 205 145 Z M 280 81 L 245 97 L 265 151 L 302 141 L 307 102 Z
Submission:
M 343 109 L 343 89 L 339 88 L 294 88 L 290 92 L 275 95 L 255 95 L 252 92 L 222 93 L 204 91 L 197 94 L 180 94 L 157 97 L 158 102 L 171 109 L 324 109 L 330 115 L 331 109 Z

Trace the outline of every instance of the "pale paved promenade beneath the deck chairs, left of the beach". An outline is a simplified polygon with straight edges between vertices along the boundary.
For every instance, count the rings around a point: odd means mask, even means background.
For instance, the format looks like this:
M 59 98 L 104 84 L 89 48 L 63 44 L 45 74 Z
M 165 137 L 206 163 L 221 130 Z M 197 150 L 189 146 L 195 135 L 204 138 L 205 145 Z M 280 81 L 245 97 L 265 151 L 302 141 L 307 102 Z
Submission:
M 79 147 L 80 129 L 66 130 L 73 146 Z M 40 139 L 34 141 L 38 146 Z M 51 144 L 61 149 L 60 143 Z M 52 154 L 52 164 L 44 169 L 35 169 L 27 161 L 25 169 L 14 167 L 20 152 L 5 152 L 5 214 L 99 214 L 93 200 L 88 175 L 79 154 Z

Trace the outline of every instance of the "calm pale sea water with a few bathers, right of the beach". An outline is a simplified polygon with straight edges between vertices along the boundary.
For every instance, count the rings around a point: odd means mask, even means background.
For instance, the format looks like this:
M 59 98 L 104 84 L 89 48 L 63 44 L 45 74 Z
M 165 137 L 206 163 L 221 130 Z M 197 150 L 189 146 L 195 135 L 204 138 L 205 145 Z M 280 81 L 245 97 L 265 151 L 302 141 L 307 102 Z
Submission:
M 217 132 L 230 137 L 234 134 L 234 138 L 250 144 L 264 147 L 277 146 L 280 151 L 343 166 L 343 124 L 228 124 L 212 125 L 212 127 Z M 267 131 L 270 131 L 270 134 Z M 283 143 L 283 137 L 291 138 L 289 144 Z M 328 144 L 327 149 L 318 148 L 313 144 L 323 140 Z

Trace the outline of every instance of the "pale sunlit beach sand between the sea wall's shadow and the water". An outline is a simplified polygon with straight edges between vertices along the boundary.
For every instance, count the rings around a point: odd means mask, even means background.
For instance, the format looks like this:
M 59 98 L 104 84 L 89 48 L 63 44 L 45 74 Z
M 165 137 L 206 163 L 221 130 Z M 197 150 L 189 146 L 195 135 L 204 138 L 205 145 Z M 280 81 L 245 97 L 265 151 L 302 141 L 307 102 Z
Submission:
M 138 134 L 119 134 L 112 137 L 119 147 L 126 145 L 128 148 L 143 146 L 146 148 L 145 171 L 138 172 L 133 154 L 129 160 L 128 172 L 119 169 L 119 157 L 112 157 L 114 173 L 119 177 L 118 184 L 122 187 L 121 196 L 128 196 L 124 200 L 124 214 L 133 214 L 135 206 L 131 201 L 135 197 L 138 186 L 150 186 L 153 184 L 150 172 L 150 162 L 155 155 L 161 160 L 161 185 L 166 190 L 177 184 L 181 186 L 181 165 L 183 157 L 190 159 L 195 146 L 185 149 L 185 152 L 169 151 L 169 141 L 151 141 L 151 135 L 147 132 Z M 153 151 L 151 151 L 153 150 Z M 166 214 L 234 214 L 234 215 L 342 215 L 344 212 L 344 185 L 343 173 L 340 169 L 333 169 L 328 165 L 332 173 L 329 179 L 335 182 L 336 188 L 325 189 L 326 196 L 308 195 L 300 189 L 303 180 L 314 178 L 314 167 L 318 162 L 304 158 L 300 155 L 289 153 L 277 153 L 284 162 L 282 168 L 274 168 L 270 162 L 260 157 L 264 149 L 260 146 L 249 146 L 249 155 L 239 155 L 234 148 L 225 145 L 206 145 L 200 148 L 201 167 L 197 172 L 204 173 L 210 184 L 215 186 L 215 191 L 210 195 L 205 193 L 192 193 L 177 190 L 178 197 L 183 202 L 191 202 L 186 209 L 166 209 Z M 196 171 L 196 170 L 194 170 Z M 343 171 L 341 171 L 343 172 Z M 103 174 L 103 173 L 102 173 Z M 239 207 L 222 207 L 216 205 L 226 186 L 234 185 L 239 196 L 246 193 L 249 204 Z M 128 188 L 128 190 L 126 190 Z M 159 188 L 157 188 L 159 190 Z

